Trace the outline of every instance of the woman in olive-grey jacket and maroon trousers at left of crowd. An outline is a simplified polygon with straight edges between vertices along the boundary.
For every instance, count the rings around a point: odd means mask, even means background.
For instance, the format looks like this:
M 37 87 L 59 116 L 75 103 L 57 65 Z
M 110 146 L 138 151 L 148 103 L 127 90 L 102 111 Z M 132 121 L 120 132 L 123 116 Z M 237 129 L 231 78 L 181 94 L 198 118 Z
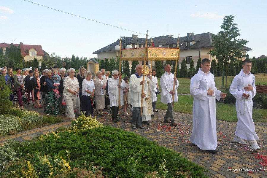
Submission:
M 22 70 L 20 67 L 16 68 L 17 74 L 14 75 L 14 91 L 16 92 L 16 95 L 18 97 L 18 101 L 16 103 L 20 105 L 20 109 L 24 110 L 25 108 L 23 107 L 22 103 L 22 94 L 24 93 L 24 78 L 23 75 L 21 74 Z M 13 71 L 12 71 L 13 72 Z

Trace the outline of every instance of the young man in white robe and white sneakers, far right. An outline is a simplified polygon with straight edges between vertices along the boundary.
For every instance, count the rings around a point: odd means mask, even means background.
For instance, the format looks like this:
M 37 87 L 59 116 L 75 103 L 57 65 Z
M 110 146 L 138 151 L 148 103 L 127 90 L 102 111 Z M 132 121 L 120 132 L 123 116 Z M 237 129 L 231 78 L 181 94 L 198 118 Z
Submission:
M 255 76 L 250 73 L 251 61 L 243 61 L 243 70 L 234 78 L 230 86 L 230 93 L 236 98 L 237 126 L 233 142 L 247 144 L 248 140 L 253 150 L 260 150 L 252 120 L 252 98 L 256 95 Z

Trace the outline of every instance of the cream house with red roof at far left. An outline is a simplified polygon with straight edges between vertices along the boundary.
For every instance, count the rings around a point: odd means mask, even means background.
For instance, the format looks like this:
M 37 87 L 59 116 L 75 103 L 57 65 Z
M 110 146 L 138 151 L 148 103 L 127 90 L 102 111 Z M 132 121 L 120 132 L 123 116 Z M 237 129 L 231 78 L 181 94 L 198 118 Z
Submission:
M 10 47 L 11 44 L 8 43 L 0 43 L 0 48 L 3 48 L 3 53 L 6 52 L 6 47 Z M 42 49 L 41 45 L 24 45 L 23 43 L 20 44 L 13 44 L 13 46 L 19 46 L 21 50 L 21 58 L 26 61 L 31 61 L 36 58 L 38 61 L 41 60 L 45 53 Z

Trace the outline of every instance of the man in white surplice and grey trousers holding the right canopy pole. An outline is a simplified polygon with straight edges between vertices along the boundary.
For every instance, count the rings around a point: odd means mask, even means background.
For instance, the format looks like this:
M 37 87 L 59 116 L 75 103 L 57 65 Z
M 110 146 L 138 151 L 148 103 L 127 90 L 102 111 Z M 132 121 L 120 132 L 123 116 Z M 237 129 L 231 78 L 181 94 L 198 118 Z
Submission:
M 175 82 L 175 90 L 173 91 L 173 85 Z M 177 126 L 173 118 L 173 99 L 178 102 L 177 89 L 179 86 L 179 81 L 174 77 L 174 74 L 171 73 L 171 66 L 169 64 L 165 65 L 165 73 L 160 77 L 160 87 L 161 87 L 161 98 L 160 101 L 164 104 L 167 104 L 167 111 L 163 118 L 164 123 L 171 123 L 172 126 Z M 169 120 L 170 118 L 170 120 Z

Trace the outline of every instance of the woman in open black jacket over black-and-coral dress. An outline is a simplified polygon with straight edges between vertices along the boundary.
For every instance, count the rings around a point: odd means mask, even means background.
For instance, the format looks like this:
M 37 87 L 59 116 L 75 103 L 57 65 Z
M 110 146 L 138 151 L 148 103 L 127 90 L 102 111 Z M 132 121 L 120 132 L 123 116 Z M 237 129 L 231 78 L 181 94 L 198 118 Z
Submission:
M 40 78 L 39 78 L 39 71 L 34 71 L 34 78 L 32 79 L 32 88 L 34 89 L 34 107 L 35 108 L 41 108 L 39 100 L 41 99 L 41 84 L 40 84 Z

